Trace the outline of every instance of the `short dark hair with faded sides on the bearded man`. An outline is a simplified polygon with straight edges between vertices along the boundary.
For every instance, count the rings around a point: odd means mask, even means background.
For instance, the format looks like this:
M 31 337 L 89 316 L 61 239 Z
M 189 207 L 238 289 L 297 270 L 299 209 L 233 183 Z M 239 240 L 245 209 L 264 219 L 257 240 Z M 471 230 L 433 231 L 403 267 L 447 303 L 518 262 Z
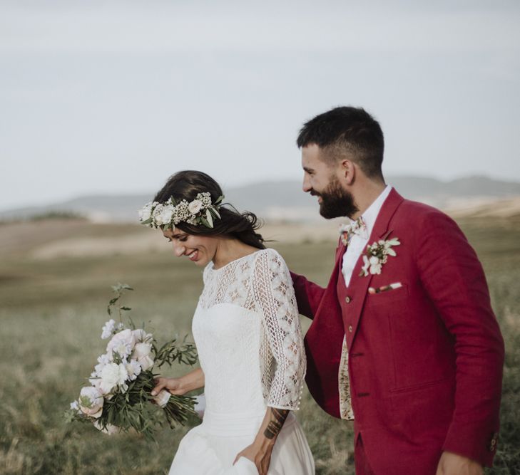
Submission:
M 339 107 L 305 122 L 299 148 L 316 144 L 325 160 L 348 157 L 367 177 L 382 177 L 384 137 L 379 122 L 362 108 Z

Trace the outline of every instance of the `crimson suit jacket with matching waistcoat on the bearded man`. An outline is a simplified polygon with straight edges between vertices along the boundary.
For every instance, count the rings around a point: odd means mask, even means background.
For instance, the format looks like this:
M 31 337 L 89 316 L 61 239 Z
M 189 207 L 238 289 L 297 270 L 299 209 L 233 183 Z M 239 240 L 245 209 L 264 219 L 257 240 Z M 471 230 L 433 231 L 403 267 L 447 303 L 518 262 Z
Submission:
M 292 273 L 305 336 L 307 385 L 340 417 L 338 368 L 347 335 L 355 439 L 377 474 L 434 474 L 442 451 L 491 465 L 499 429 L 504 342 L 484 271 L 457 224 L 437 209 L 384 202 L 369 244 L 399 238 L 379 275 L 348 288 L 336 250 L 327 288 Z M 400 288 L 368 293 L 401 283 Z

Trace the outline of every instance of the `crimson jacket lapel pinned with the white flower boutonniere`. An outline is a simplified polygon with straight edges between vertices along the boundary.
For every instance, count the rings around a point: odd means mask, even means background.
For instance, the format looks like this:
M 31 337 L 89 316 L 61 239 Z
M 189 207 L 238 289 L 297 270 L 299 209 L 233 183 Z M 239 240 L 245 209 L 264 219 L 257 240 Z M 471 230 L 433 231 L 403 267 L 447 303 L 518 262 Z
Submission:
M 399 205 L 404 201 L 403 197 L 392 188 L 387 199 L 384 201 L 379 215 L 377 216 L 372 233 L 369 236 L 368 244 L 372 244 L 374 241 L 384 238 L 389 231 L 389 222 L 392 216 L 397 211 Z M 360 318 L 362 315 L 364 301 L 367 298 L 367 292 L 372 281 L 372 274 L 368 276 L 360 276 L 361 269 L 363 267 L 363 254 L 357 260 L 354 271 L 352 272 L 352 279 L 348 288 L 348 293 L 351 298 L 350 312 L 352 315 L 352 331 L 350 328 L 345 328 L 345 335 L 347 335 L 347 346 L 351 348 L 352 341 L 355 338 L 356 330 L 360 324 Z

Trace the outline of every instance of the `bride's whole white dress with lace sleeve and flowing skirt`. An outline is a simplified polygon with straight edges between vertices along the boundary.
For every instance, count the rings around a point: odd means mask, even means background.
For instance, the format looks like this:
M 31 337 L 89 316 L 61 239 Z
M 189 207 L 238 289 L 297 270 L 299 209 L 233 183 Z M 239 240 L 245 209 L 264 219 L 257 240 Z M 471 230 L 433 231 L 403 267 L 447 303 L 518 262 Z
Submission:
M 180 442 L 170 475 L 258 474 L 235 456 L 258 434 L 267 406 L 298 409 L 305 377 L 290 273 L 280 254 L 257 251 L 204 269 L 193 337 L 205 375 L 203 422 Z M 292 412 L 275 442 L 270 475 L 314 474 L 305 435 Z

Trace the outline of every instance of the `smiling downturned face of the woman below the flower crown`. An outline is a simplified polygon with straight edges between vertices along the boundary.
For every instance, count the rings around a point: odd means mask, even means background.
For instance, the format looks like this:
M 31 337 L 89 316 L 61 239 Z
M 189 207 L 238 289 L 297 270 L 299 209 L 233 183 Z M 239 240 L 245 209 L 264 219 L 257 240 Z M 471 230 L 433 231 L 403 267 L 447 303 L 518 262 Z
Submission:
M 188 234 L 180 229 L 168 229 L 163 234 L 173 244 L 175 256 L 185 256 L 197 266 L 204 267 L 213 260 L 217 252 L 218 239 L 214 237 Z

